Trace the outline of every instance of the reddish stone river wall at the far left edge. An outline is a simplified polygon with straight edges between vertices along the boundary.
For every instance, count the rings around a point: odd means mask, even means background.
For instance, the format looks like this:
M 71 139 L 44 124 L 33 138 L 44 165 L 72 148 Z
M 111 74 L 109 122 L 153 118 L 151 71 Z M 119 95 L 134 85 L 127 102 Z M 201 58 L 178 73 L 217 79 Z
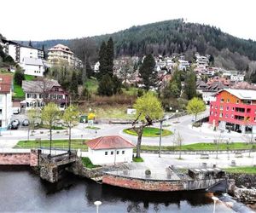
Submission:
M 0 165 L 38 165 L 38 152 L 31 153 L 0 153 Z

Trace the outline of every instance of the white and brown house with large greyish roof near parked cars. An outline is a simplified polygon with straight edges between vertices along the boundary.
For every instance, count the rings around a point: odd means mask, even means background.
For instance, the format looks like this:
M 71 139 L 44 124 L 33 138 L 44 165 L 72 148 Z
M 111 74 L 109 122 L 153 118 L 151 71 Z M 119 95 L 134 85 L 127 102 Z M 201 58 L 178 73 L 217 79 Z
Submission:
M 22 89 L 25 101 L 20 102 L 21 108 L 29 110 L 32 107 L 43 107 L 48 102 L 55 102 L 60 110 L 67 107 L 68 94 L 60 83 L 53 79 L 22 81 Z

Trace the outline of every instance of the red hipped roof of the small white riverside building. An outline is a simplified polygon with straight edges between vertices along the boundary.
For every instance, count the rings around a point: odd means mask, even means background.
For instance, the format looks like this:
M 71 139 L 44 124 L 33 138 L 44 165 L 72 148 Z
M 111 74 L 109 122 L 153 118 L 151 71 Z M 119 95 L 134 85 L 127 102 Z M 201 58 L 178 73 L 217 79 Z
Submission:
M 88 147 L 94 150 L 135 147 L 135 145 L 133 145 L 129 141 L 126 141 L 123 137 L 119 135 L 98 137 L 96 139 L 88 141 L 86 144 Z

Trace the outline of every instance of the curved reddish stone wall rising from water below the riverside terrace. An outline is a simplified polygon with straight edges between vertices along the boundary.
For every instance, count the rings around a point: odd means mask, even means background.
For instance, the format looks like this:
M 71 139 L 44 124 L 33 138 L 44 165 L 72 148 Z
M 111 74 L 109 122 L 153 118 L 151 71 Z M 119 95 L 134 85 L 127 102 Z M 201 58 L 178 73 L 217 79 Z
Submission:
M 111 176 L 107 174 L 104 174 L 102 183 L 145 191 L 168 192 L 185 190 L 182 181 L 146 181 L 121 176 Z

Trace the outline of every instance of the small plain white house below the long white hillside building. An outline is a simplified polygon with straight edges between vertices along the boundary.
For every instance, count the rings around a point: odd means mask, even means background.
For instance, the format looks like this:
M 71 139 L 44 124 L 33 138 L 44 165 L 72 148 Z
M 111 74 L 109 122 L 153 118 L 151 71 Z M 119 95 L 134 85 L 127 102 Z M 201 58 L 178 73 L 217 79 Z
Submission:
M 44 63 L 42 59 L 23 58 L 20 66 L 23 68 L 24 74 L 40 77 L 44 76 Z

